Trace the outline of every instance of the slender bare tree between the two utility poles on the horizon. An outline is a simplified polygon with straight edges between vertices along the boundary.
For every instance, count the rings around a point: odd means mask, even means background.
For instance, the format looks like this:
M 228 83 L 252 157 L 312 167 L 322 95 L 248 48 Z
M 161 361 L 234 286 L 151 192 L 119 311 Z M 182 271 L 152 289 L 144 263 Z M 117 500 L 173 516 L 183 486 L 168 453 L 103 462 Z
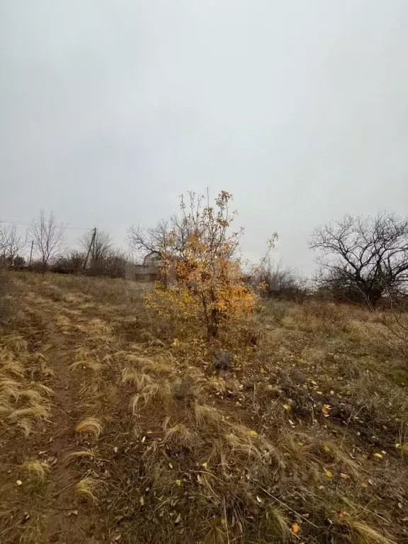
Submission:
M 57 225 L 57 218 L 50 212 L 45 217 L 44 210 L 40 210 L 40 218 L 33 220 L 30 225 L 30 234 L 33 237 L 34 247 L 40 256 L 42 273 L 45 272 L 48 261 L 60 249 L 66 227 Z

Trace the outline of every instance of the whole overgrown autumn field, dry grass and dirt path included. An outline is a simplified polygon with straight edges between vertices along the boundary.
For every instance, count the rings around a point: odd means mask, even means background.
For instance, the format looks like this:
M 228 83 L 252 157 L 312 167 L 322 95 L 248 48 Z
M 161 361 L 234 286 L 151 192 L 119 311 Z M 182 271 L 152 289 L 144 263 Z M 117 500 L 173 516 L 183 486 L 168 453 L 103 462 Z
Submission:
M 1 543 L 408 543 L 379 316 L 267 302 L 215 345 L 135 283 L 1 281 Z

